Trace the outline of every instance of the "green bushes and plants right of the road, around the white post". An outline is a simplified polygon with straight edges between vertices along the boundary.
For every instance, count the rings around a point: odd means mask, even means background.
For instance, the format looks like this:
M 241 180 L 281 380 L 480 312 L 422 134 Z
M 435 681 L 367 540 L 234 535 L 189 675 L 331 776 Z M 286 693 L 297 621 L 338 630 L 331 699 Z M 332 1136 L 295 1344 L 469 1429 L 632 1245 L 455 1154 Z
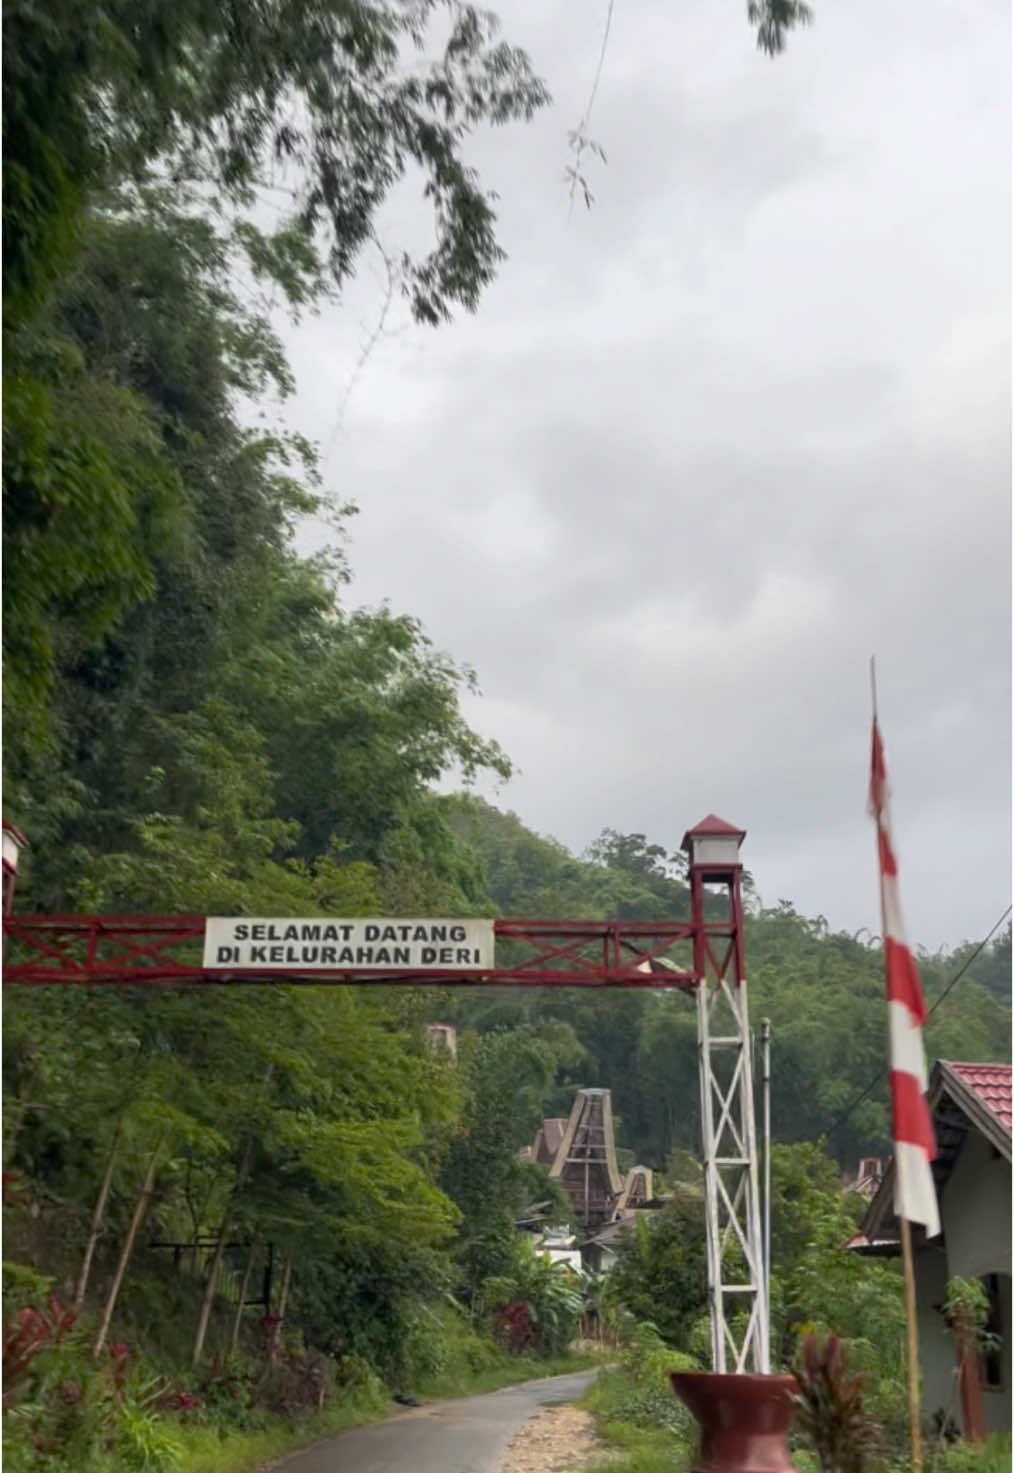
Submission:
M 682 1180 L 674 1180 L 672 1202 L 622 1240 L 609 1279 L 618 1364 L 582 1402 L 616 1448 L 615 1463 L 597 1473 L 690 1469 L 697 1448 L 697 1426 L 669 1374 L 710 1370 L 703 1200 L 687 1159 L 674 1165 Z M 799 1377 L 790 1433 L 799 1473 L 905 1473 L 909 1466 L 901 1270 L 842 1248 L 862 1206 L 842 1193 L 822 1143 L 775 1147 L 772 1368 Z M 962 1307 L 980 1296 L 980 1286 L 961 1280 L 949 1289 Z M 927 1473 L 1010 1469 L 1010 1438 L 979 1446 L 957 1441 L 957 1377 L 949 1405 L 923 1410 Z

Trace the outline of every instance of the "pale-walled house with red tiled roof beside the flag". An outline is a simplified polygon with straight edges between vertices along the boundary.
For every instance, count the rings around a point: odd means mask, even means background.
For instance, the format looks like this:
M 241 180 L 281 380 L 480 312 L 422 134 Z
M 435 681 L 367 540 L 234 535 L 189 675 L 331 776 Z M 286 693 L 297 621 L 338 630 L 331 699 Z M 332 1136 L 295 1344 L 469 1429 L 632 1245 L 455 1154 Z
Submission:
M 923 1405 L 927 1417 L 958 1418 L 965 1436 L 1011 1426 L 1011 1066 L 937 1062 L 929 1103 L 937 1155 L 933 1180 L 939 1237 L 912 1228 Z M 901 1252 L 895 1218 L 895 1171 L 889 1162 L 853 1252 Z M 998 1349 L 964 1357 L 943 1320 L 948 1280 L 979 1279 L 987 1293 Z

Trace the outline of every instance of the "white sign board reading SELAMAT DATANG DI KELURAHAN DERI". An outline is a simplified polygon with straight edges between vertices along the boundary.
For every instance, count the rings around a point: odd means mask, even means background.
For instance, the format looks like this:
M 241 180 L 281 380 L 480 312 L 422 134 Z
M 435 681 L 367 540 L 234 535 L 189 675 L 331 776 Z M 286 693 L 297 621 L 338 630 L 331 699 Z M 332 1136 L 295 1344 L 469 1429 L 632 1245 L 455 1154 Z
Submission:
M 203 965 L 245 972 L 491 971 L 492 921 L 208 916 Z

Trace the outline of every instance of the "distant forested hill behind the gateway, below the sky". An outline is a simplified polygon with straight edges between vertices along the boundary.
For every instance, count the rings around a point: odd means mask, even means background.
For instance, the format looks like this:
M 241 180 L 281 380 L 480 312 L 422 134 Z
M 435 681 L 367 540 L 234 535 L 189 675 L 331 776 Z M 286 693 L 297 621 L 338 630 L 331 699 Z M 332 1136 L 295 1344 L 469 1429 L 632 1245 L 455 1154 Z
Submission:
M 454 828 L 482 859 L 489 894 L 504 915 L 688 915 L 681 854 L 643 834 L 606 829 L 584 859 L 542 838 L 511 813 L 455 798 Z M 889 1149 L 886 1013 L 880 946 L 833 932 L 787 901 L 762 907 L 746 876 L 746 959 L 750 1013 L 772 1024 L 772 1128 L 778 1140 L 828 1134 L 843 1165 Z M 974 946 L 920 957 L 933 1008 Z M 933 1013 L 930 1062 L 1010 1059 L 1011 931 L 986 947 Z M 697 1149 L 694 1010 L 681 994 L 463 994 L 450 1005 L 478 1028 L 557 1019 L 572 1030 L 569 1056 L 547 1094 L 547 1114 L 566 1114 L 575 1086 L 607 1086 L 618 1136 L 632 1156 L 663 1167 L 676 1147 Z M 859 1103 L 856 1096 L 880 1078 Z M 852 1106 L 852 1108 L 850 1108 Z

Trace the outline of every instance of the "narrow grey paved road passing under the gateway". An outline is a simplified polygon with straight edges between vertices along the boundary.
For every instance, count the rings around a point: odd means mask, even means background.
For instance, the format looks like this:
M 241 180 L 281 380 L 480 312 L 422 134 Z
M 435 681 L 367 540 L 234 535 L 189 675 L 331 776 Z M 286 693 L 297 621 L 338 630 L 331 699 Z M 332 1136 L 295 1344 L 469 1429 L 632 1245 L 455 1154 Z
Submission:
M 279 1473 L 491 1473 L 539 1407 L 575 1401 L 594 1371 L 504 1386 L 486 1396 L 435 1401 L 371 1427 L 352 1427 L 296 1452 Z

